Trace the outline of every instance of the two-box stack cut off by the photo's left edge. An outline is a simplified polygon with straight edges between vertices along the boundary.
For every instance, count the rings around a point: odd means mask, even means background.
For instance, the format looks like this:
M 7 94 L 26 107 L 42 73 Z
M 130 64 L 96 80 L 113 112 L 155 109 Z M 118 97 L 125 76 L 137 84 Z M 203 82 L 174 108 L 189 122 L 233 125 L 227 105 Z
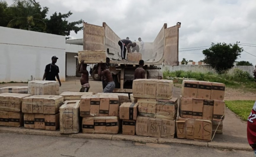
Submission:
M 21 112 L 22 99 L 29 94 L 2 93 L 0 94 L 0 125 L 10 127 L 23 126 Z

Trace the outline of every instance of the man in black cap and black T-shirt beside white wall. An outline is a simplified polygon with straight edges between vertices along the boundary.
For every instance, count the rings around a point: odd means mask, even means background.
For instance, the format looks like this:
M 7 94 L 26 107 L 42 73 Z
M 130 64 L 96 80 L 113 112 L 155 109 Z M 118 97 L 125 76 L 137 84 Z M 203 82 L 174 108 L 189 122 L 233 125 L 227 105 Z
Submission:
M 58 57 L 53 56 L 52 63 L 45 66 L 43 80 L 56 81 L 55 77 L 57 77 L 59 86 L 61 86 L 61 81 L 59 80 L 59 67 L 55 65 L 58 59 Z

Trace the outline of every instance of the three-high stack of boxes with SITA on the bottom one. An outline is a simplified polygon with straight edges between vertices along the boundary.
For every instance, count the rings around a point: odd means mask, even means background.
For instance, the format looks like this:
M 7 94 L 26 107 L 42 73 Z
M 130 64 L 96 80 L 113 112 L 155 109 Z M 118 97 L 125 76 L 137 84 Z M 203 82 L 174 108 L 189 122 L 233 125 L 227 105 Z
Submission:
M 137 99 L 138 104 L 137 135 L 174 138 L 177 98 L 173 98 L 172 93 L 171 80 L 137 79 L 133 81 L 131 101 L 136 102 Z

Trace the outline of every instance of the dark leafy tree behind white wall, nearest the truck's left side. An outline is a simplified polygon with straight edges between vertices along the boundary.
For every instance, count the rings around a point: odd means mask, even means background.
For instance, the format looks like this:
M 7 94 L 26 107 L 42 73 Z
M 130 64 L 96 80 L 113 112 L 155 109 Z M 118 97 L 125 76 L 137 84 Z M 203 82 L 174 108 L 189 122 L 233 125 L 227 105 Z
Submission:
M 66 19 L 73 13 L 69 11 L 67 14 L 57 14 L 56 12 L 50 16 L 50 19 L 46 19 L 47 33 L 65 35 L 66 39 L 70 39 L 69 35 L 72 30 L 77 34 L 78 31 L 83 29 L 83 27 L 77 27 L 77 24 L 83 23 L 83 20 L 69 23 Z

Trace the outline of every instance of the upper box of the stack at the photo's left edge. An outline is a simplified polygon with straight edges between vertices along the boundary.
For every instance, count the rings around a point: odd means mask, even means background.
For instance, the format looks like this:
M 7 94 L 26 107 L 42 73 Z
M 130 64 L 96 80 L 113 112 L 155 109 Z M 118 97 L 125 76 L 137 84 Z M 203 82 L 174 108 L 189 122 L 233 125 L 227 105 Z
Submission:
M 0 94 L 0 110 L 21 111 L 22 99 L 31 96 L 29 94 L 2 93 Z

